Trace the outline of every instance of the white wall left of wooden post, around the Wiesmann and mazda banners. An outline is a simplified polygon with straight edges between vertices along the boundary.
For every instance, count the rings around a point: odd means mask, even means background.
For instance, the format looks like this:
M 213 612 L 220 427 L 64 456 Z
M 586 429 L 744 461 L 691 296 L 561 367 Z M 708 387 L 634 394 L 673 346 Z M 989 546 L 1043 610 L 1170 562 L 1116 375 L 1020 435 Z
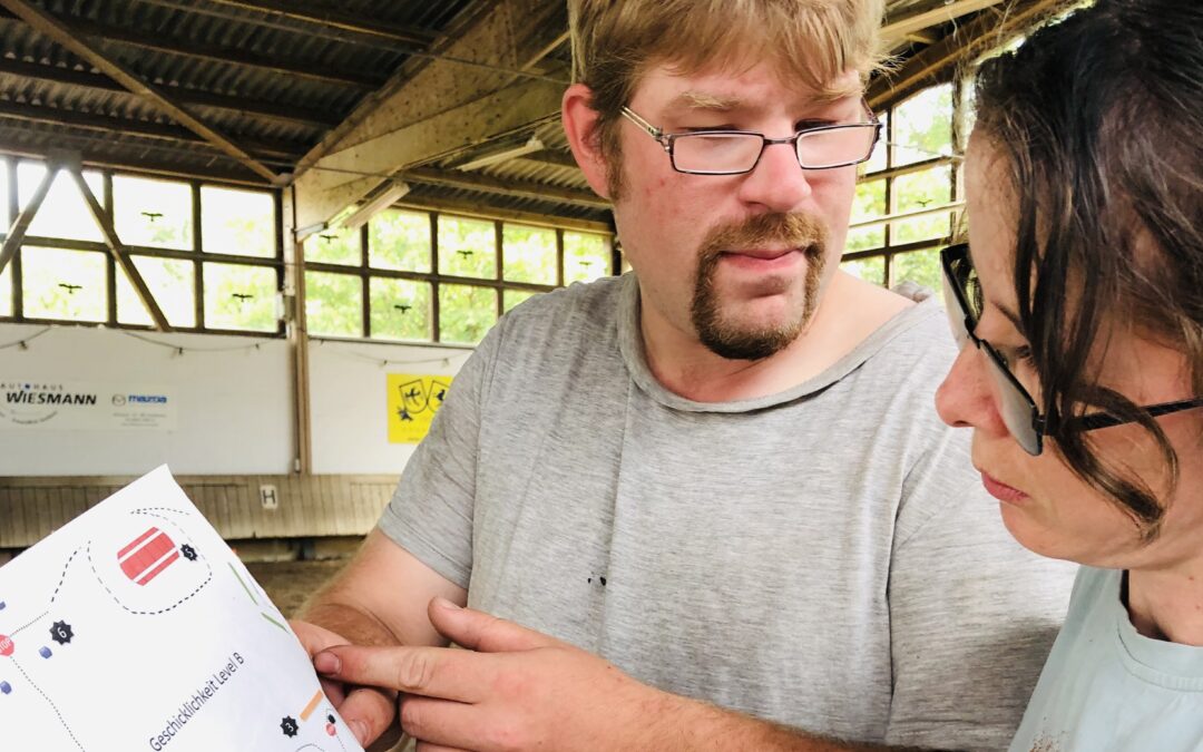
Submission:
M 0 345 L 45 326 L 0 325 Z M 292 381 L 279 339 L 137 333 L 63 326 L 0 350 L 0 379 L 140 384 L 174 396 L 173 431 L 0 428 L 0 475 L 141 474 L 164 462 L 177 474 L 288 473 Z M 255 347 L 257 344 L 257 348 Z

